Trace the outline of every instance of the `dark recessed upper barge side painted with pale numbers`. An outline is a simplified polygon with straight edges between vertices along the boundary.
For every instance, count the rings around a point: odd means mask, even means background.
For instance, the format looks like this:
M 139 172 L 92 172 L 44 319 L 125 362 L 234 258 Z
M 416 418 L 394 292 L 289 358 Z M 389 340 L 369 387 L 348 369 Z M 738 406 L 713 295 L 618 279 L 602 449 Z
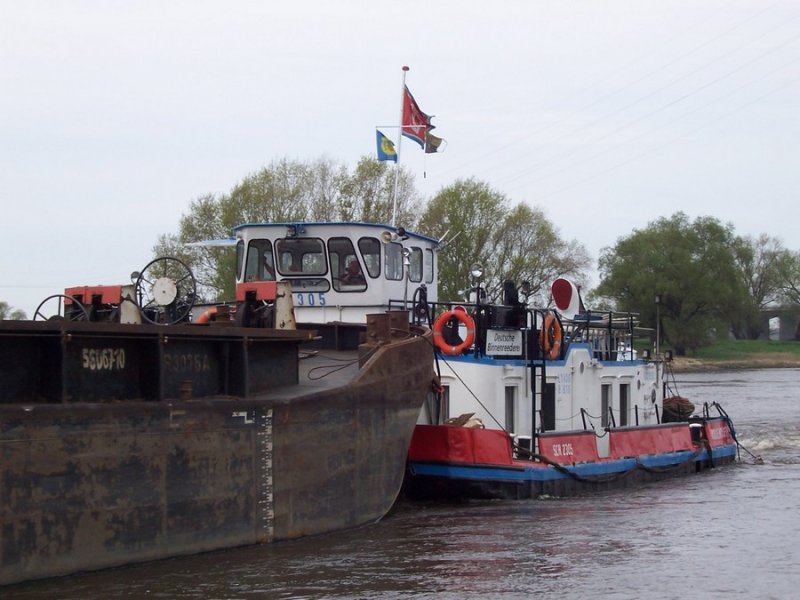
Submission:
M 297 380 L 312 332 L 66 321 L 0 323 L 0 404 L 247 397 Z

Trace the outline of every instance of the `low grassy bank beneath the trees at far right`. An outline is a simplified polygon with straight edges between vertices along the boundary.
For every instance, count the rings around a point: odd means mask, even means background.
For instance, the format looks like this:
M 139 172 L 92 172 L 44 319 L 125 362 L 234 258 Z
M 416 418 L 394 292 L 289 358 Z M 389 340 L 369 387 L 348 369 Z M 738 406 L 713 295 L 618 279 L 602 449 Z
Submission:
M 677 372 L 786 367 L 800 368 L 800 342 L 716 342 L 689 356 L 675 357 L 673 363 Z

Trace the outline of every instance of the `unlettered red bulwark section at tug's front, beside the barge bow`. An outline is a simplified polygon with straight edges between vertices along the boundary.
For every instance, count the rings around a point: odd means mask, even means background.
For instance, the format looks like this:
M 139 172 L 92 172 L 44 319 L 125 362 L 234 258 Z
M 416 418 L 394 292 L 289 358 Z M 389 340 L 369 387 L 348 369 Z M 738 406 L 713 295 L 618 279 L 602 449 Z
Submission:
M 510 465 L 511 443 L 504 431 L 450 425 L 417 425 L 409 460 L 462 464 Z

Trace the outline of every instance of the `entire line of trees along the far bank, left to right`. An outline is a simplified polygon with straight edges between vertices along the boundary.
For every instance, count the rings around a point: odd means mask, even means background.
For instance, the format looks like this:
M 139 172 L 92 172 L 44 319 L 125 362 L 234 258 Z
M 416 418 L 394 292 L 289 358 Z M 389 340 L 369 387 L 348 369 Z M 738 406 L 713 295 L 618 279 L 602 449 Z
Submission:
M 557 277 L 586 287 L 592 266 L 586 248 L 565 239 L 541 209 L 514 204 L 472 178 L 456 180 L 425 201 L 403 166 L 367 157 L 353 169 L 325 158 L 273 161 L 228 193 L 193 200 L 177 232 L 162 234 L 153 250 L 189 264 L 201 299 L 214 302 L 234 296 L 235 255 L 230 248 L 194 242 L 228 238 L 243 223 L 388 224 L 393 213 L 398 226 L 444 240 L 441 299 L 465 297 L 476 262 L 484 267 L 481 283 L 492 300 L 502 300 L 506 280 L 527 282 L 529 298 L 538 305 L 550 301 L 550 283 Z M 766 234 L 739 236 L 732 225 L 709 216 L 660 217 L 604 248 L 598 271 L 600 283 L 585 294 L 587 303 L 638 312 L 645 327 L 655 328 L 659 317 L 662 342 L 680 354 L 714 335 L 757 338 L 766 333 L 765 308 L 800 304 L 800 252 Z M 0 303 L 0 318 L 19 318 L 19 312 Z

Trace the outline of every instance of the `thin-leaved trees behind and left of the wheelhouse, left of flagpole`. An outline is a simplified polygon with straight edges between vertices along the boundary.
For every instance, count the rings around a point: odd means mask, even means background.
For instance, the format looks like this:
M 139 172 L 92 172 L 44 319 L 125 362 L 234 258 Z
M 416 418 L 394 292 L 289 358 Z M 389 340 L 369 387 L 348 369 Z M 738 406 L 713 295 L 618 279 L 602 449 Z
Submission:
M 397 167 L 396 167 L 397 168 Z M 397 224 L 416 225 L 421 202 L 413 176 L 397 171 Z M 156 256 L 186 262 L 204 301 L 234 294 L 235 252 L 228 247 L 192 245 L 229 238 L 237 225 L 291 221 L 354 220 L 390 223 L 395 171 L 385 162 L 362 158 L 351 173 L 329 159 L 278 160 L 245 177 L 228 194 L 202 196 L 189 205 L 177 233 L 160 236 Z

